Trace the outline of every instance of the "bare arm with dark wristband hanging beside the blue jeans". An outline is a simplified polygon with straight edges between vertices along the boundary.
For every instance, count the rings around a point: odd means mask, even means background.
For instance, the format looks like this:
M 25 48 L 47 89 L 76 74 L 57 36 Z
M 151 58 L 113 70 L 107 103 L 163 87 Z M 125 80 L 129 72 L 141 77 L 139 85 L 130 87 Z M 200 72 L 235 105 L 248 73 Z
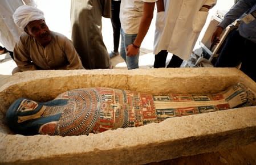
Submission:
M 151 21 L 153 19 L 155 3 L 144 2 L 143 6 L 143 16 L 140 21 L 139 32 L 133 44 L 127 46 L 127 56 L 135 56 L 139 52 L 140 45 L 147 35 L 148 29 L 150 27 Z

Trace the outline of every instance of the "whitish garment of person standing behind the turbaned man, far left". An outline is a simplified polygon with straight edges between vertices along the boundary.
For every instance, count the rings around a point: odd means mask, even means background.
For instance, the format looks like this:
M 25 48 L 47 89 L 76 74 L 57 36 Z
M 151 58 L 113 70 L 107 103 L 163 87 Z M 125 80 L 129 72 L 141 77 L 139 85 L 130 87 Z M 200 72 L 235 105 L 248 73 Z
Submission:
M 15 43 L 22 31 L 13 21 L 14 11 L 22 5 L 36 6 L 33 0 L 1 0 L 0 1 L 0 43 L 13 52 Z

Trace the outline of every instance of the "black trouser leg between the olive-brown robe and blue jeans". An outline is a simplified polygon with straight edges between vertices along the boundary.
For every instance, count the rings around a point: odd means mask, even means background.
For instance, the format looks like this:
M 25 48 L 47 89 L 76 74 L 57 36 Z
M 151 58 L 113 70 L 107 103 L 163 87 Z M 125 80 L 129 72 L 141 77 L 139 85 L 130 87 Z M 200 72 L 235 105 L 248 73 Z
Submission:
M 121 23 L 119 19 L 121 1 L 111 1 L 111 23 L 113 27 L 114 52 L 118 52 Z

